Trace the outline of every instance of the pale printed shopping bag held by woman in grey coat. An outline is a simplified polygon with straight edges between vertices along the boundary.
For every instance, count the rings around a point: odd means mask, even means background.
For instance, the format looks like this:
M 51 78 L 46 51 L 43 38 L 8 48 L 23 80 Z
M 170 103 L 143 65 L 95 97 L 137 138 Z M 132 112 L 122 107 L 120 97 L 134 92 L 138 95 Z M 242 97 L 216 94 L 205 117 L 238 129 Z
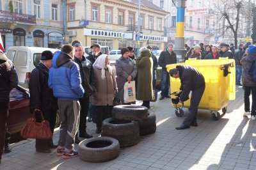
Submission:
M 135 81 L 125 82 L 124 102 L 127 104 L 135 101 L 136 101 Z

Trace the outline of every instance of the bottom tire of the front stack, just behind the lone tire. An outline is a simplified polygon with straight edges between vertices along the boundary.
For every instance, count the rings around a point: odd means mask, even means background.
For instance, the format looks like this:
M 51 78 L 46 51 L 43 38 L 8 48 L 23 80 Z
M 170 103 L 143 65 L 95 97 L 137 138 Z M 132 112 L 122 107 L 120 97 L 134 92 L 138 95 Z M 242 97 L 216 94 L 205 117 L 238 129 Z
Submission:
M 108 136 L 108 137 L 115 138 L 116 140 L 118 140 L 120 144 L 120 148 L 134 146 L 135 144 L 138 144 L 140 142 L 140 132 L 132 135 L 123 135 L 123 136 L 115 136 L 115 135 L 109 136 L 102 132 L 101 136 Z

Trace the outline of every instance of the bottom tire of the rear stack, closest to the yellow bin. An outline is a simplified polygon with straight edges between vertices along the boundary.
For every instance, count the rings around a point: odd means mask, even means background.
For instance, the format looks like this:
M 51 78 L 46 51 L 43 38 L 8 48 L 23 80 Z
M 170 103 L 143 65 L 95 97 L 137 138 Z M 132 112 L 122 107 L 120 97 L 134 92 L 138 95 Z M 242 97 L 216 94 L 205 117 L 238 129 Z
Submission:
M 156 132 L 156 114 L 149 112 L 148 117 L 138 121 L 140 135 L 154 134 Z

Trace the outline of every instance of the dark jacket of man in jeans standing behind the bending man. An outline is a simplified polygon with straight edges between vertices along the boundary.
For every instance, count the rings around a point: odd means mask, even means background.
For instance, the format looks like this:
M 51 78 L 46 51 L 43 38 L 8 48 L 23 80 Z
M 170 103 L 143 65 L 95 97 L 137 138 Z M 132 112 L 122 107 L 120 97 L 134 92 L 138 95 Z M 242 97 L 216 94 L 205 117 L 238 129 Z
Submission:
M 175 52 L 172 54 L 168 50 L 163 50 L 158 59 L 158 65 L 162 67 L 162 70 L 166 71 L 166 65 L 171 65 L 177 63 L 177 56 Z

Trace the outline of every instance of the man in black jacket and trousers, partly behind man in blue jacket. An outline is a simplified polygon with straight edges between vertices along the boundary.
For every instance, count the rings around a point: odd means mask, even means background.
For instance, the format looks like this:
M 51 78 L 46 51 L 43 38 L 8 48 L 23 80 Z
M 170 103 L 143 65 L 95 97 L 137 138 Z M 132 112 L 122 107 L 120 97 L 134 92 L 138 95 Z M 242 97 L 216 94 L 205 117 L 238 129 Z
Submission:
M 79 137 L 91 138 L 92 135 L 86 132 L 86 117 L 89 111 L 90 96 L 96 91 L 96 80 L 93 71 L 92 63 L 84 57 L 83 46 L 79 43 L 73 45 L 75 49 L 74 61 L 79 65 L 82 86 L 84 88 L 84 96 L 79 98 L 81 105 L 80 119 L 79 119 Z M 80 143 L 76 134 L 75 143 Z

